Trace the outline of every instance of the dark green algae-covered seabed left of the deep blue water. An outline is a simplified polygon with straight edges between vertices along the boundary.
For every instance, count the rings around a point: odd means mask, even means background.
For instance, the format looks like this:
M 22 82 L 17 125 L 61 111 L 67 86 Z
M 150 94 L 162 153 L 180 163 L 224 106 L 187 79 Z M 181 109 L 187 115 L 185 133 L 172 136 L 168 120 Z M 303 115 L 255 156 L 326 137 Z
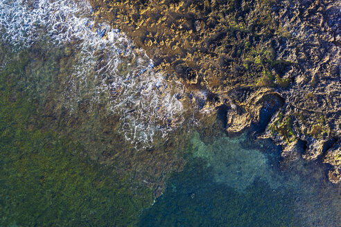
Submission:
M 44 129 L 55 69 L 27 73 L 31 53 L 0 72 L 0 226 L 134 226 L 152 190 L 92 161 L 82 141 Z

